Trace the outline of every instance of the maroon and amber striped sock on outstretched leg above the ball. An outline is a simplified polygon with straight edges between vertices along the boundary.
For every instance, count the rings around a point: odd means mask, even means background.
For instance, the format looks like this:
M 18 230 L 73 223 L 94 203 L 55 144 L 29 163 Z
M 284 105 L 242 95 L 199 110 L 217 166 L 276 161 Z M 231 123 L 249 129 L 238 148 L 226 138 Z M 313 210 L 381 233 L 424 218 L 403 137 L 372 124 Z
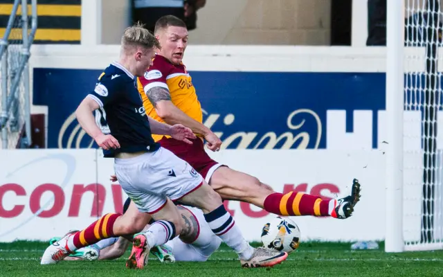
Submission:
M 329 202 L 318 196 L 290 192 L 273 193 L 264 199 L 264 209 L 277 215 L 314 215 L 328 216 Z

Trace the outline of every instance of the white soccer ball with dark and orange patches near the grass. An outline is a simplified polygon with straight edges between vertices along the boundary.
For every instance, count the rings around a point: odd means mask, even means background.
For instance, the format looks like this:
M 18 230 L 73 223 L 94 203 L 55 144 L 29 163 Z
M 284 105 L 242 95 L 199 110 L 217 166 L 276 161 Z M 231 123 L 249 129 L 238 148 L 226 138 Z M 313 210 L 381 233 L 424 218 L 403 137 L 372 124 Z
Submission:
M 268 249 L 291 253 L 300 245 L 300 229 L 288 217 L 273 217 L 264 224 L 262 230 L 263 246 Z

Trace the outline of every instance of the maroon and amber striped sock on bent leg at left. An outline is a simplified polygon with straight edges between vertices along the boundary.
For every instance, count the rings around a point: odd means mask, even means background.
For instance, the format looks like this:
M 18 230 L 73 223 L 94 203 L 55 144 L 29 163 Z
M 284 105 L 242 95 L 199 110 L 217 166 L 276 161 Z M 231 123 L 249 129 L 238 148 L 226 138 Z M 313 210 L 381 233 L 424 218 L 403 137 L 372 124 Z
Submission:
M 105 238 L 114 237 L 114 222 L 116 222 L 116 219 L 120 216 L 118 213 L 108 213 L 89 225 L 86 229 L 71 235 L 67 245 L 69 251 L 86 247 Z

